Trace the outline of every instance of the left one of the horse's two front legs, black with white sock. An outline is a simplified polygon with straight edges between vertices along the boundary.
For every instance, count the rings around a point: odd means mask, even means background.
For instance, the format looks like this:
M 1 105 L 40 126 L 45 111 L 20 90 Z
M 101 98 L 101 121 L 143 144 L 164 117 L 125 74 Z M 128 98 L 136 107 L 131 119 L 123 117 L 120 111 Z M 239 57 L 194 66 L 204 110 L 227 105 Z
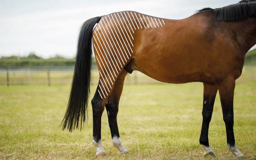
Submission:
M 213 105 L 214 105 L 217 91 L 218 89 L 215 84 L 204 83 L 204 100 L 203 100 L 203 111 L 202 111 L 203 124 L 202 124 L 200 139 L 199 139 L 201 146 L 205 150 L 204 156 L 208 156 L 208 155 L 216 156 L 209 145 L 208 130 L 209 130 L 209 124 L 212 118 Z

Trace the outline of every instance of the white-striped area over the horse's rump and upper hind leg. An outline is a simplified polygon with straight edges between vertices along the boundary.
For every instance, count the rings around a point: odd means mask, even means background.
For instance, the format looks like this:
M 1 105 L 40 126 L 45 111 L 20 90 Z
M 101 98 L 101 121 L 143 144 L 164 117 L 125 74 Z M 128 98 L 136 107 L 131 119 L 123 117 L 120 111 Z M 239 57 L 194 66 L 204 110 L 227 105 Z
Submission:
M 103 16 L 93 30 L 93 50 L 100 73 L 98 92 L 107 98 L 124 66 L 131 60 L 134 34 L 156 29 L 164 20 L 138 12 L 124 11 Z

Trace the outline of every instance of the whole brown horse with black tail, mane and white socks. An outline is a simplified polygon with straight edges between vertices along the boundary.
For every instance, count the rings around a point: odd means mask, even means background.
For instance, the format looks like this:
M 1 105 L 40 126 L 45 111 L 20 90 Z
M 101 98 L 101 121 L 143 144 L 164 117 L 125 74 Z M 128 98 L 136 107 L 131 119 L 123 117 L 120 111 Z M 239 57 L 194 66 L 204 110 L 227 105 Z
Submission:
M 226 125 L 228 150 L 236 157 L 233 124 L 235 80 L 241 75 L 245 53 L 256 44 L 256 2 L 242 0 L 222 8 L 204 8 L 182 20 L 152 17 L 132 11 L 116 12 L 84 22 L 77 44 L 74 77 L 63 129 L 82 127 L 87 119 L 93 52 L 99 84 L 92 99 L 96 155 L 101 144 L 101 116 L 106 107 L 113 146 L 122 145 L 117 112 L 127 73 L 138 70 L 166 83 L 203 82 L 203 124 L 200 144 L 213 155 L 209 123 L 217 90 Z M 88 119 L 87 119 L 88 120 Z

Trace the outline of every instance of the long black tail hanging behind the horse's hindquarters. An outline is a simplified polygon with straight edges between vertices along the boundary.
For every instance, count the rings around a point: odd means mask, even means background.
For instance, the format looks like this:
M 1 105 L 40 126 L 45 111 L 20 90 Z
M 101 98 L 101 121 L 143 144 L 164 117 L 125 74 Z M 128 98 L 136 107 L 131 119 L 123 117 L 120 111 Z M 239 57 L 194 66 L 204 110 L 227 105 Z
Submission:
M 70 132 L 88 120 L 88 99 L 92 67 L 92 30 L 101 17 L 86 20 L 80 28 L 77 40 L 76 63 L 71 85 L 68 107 L 61 122 L 62 130 Z

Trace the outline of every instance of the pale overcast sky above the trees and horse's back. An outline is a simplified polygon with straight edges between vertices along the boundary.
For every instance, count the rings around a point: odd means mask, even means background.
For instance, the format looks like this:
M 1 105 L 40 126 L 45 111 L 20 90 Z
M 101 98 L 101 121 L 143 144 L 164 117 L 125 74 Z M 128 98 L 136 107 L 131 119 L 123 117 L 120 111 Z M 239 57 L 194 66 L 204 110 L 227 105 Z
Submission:
M 183 19 L 196 10 L 220 8 L 239 0 L 0 0 L 0 56 L 72 58 L 81 24 L 92 17 L 118 11 Z M 254 46 L 255 48 L 255 46 Z

